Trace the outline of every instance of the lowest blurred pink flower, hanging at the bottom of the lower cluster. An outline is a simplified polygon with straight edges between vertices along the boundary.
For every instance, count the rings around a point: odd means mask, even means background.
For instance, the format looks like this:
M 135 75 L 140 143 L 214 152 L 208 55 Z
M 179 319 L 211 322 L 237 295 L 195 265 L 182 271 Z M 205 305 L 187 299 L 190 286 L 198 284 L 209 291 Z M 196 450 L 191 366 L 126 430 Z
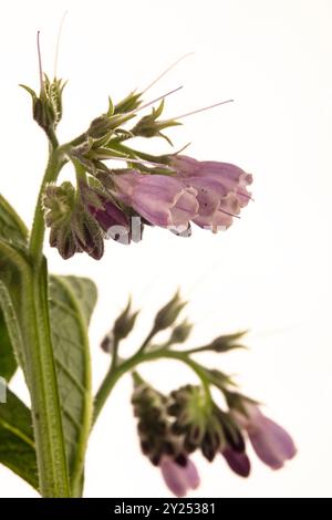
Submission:
M 159 467 L 167 487 L 176 497 L 185 497 L 190 489 L 198 488 L 199 475 L 191 460 L 187 459 L 186 465 L 180 466 L 164 455 Z

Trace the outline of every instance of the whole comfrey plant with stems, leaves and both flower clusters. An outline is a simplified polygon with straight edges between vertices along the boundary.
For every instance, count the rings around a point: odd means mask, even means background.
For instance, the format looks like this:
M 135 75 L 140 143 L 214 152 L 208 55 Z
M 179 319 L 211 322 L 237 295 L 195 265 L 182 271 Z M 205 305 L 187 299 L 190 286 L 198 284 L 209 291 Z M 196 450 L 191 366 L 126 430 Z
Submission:
M 87 279 L 48 272 L 46 228 L 50 245 L 63 259 L 86 252 L 96 260 L 103 257 L 105 239 L 129 247 L 142 240 L 145 226 L 179 236 L 189 236 L 193 223 L 217 232 L 229 228 L 250 201 L 252 178 L 231 164 L 199 162 L 178 152 L 155 156 L 133 147 L 135 137 L 169 142 L 164 132 L 188 115 L 162 118 L 168 94 L 145 104 L 144 92 L 132 92 L 116 104 L 110 98 L 104 114 L 60 145 L 63 87 L 62 80 L 51 81 L 42 72 L 39 95 L 24 86 L 50 149 L 30 231 L 0 197 L 0 376 L 10 381 L 20 368 L 31 397 L 29 409 L 10 388 L 1 391 L 0 461 L 42 497 L 81 497 L 89 436 L 113 387 L 129 373 L 142 450 L 177 497 L 199 486 L 191 458 L 196 450 L 209 461 L 219 454 L 236 474 L 248 477 L 249 439 L 264 464 L 281 468 L 295 454 L 287 431 L 239 393 L 231 377 L 199 362 L 199 353 L 242 347 L 243 333 L 184 346 L 191 325 L 180 319 L 185 302 L 178 293 L 125 358 L 121 346 L 138 314 L 128 303 L 102 342 L 110 370 L 92 395 L 87 327 L 96 288 Z M 148 106 L 152 112 L 141 116 Z M 75 180 L 59 184 L 68 163 Z M 160 331 L 168 331 L 166 342 L 157 341 Z M 138 373 L 142 363 L 159 360 L 188 365 L 197 385 L 163 395 Z M 214 387 L 224 406 L 215 402 Z

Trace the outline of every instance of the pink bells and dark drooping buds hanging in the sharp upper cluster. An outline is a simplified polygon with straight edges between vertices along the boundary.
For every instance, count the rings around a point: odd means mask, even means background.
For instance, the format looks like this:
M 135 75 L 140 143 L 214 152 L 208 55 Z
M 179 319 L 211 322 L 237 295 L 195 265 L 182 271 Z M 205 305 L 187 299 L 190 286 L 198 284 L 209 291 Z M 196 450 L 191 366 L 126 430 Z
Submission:
M 131 243 L 133 237 L 135 241 L 142 238 L 144 225 L 167 228 L 183 237 L 190 236 L 190 222 L 212 232 L 225 230 L 250 200 L 247 186 L 251 175 L 237 166 L 199 163 L 185 156 L 168 156 L 167 160 L 175 168 L 169 175 L 146 174 L 132 168 L 103 173 L 97 176 L 97 195 L 89 183 L 80 183 L 74 211 L 65 218 L 65 235 L 75 243 L 72 248 L 63 246 L 48 212 L 50 205 L 60 204 L 61 189 L 46 190 L 45 219 L 51 236 L 58 237 L 55 241 L 50 240 L 51 246 L 56 247 L 63 258 L 81 251 L 96 259 L 102 257 L 103 245 L 92 246 L 89 235 L 86 240 L 77 241 L 72 233 L 77 215 L 91 222 L 96 237 L 102 235 L 120 243 Z M 188 165 L 191 165 L 190 170 Z M 90 199 L 87 205 L 84 199 Z M 68 254 L 64 249 L 69 249 Z

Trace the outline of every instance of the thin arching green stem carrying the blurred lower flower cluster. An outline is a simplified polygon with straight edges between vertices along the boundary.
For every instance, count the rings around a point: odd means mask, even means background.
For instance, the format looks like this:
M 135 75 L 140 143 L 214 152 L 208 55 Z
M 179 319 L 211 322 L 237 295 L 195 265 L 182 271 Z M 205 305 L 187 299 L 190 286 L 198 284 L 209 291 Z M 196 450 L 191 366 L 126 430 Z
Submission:
M 102 412 L 111 392 L 113 391 L 114 386 L 118 382 L 118 379 L 126 374 L 129 371 L 133 371 L 137 365 L 141 363 L 145 362 L 151 362 L 151 361 L 157 361 L 162 358 L 168 358 L 168 360 L 177 360 L 186 365 L 188 365 L 200 378 L 205 392 L 206 392 L 206 398 L 207 403 L 211 403 L 211 393 L 209 388 L 209 382 L 208 378 L 205 374 L 204 368 L 196 363 L 194 360 L 190 360 L 190 357 L 184 355 L 180 352 L 173 352 L 168 350 L 158 350 L 156 352 L 147 352 L 147 353 L 136 353 L 128 360 L 124 361 L 114 371 L 112 367 L 108 370 L 107 374 L 104 377 L 104 381 L 96 393 L 95 399 L 94 399 L 94 419 L 93 422 L 95 423 L 100 413 Z

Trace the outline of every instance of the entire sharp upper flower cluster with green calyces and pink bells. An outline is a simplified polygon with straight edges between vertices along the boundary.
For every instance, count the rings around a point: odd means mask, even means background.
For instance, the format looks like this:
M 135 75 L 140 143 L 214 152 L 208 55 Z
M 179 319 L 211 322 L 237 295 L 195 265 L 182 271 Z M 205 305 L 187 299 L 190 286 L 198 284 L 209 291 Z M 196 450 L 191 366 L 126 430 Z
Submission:
M 45 76 L 39 97 L 24 86 L 32 95 L 34 118 L 53 146 L 63 86 L 60 80 L 50 82 Z M 126 245 L 138 241 L 144 225 L 184 237 L 191 235 L 191 222 L 212 232 L 225 230 L 250 200 L 252 176 L 238 166 L 199 162 L 179 153 L 154 156 L 127 145 L 135 137 L 163 137 L 170 143 L 162 131 L 180 123 L 160 119 L 166 95 L 132 128 L 126 127 L 128 122 L 152 103 L 143 105 L 141 93 L 132 93 L 116 105 L 110 100 L 107 112 L 86 132 L 58 147 L 63 164 L 72 163 L 76 174 L 76 187 L 51 186 L 44 194 L 50 243 L 63 258 L 84 251 L 100 259 L 105 238 Z M 125 167 L 110 166 L 112 159 Z M 71 199 L 70 205 L 63 205 L 63 196 Z M 54 207 L 61 207 L 61 225 L 53 218 Z

